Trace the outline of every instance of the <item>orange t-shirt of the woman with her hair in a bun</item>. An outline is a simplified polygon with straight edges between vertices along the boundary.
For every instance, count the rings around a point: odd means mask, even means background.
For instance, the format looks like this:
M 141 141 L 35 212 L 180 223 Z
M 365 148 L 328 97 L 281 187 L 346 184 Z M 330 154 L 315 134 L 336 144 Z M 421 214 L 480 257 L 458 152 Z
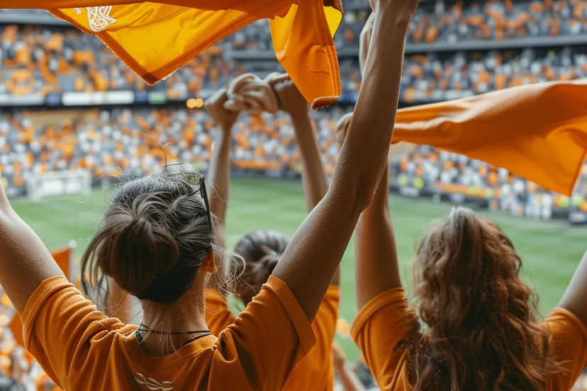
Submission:
M 281 390 L 315 344 L 296 297 L 270 277 L 218 337 L 150 356 L 122 324 L 96 310 L 63 277 L 45 280 L 23 313 L 25 345 L 65 390 Z

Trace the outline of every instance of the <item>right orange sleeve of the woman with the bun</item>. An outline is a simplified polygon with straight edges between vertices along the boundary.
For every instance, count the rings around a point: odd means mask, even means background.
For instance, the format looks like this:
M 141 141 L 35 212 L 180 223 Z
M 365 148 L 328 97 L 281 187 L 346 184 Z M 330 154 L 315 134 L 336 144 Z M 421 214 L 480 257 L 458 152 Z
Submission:
M 310 322 L 284 281 L 270 276 L 218 336 L 223 358 L 240 361 L 252 390 L 281 390 L 315 344 Z M 237 356 L 237 357 L 233 357 Z

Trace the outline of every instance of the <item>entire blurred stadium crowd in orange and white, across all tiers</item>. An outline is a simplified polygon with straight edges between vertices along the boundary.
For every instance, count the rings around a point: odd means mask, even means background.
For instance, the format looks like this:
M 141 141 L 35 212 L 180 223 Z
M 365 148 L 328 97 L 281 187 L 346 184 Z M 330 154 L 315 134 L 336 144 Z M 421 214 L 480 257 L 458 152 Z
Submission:
M 329 173 L 338 153 L 335 123 L 352 111 L 361 86 L 358 40 L 370 12 L 367 0 L 342 3 L 345 16 L 335 43 L 344 94 L 339 104 L 313 113 Z M 281 69 L 267 21 L 247 26 L 149 86 L 99 40 L 48 13 L 0 10 L 0 179 L 9 196 L 18 197 L 26 196 L 31 177 L 52 171 L 89 170 L 96 186 L 152 172 L 166 162 L 188 162 L 206 171 L 215 130 L 201 109 L 203 100 L 238 74 L 264 77 L 275 71 Z M 401 105 L 586 74 L 587 1 L 422 0 L 408 34 Z M 125 107 L 84 103 L 84 110 L 47 105 L 45 99 L 109 91 L 155 92 L 164 98 Z M 232 153 L 235 174 L 301 174 L 293 129 L 281 113 L 241 114 Z M 581 222 L 573 216 L 587 215 L 587 166 L 570 198 L 505 169 L 428 146 L 391 159 L 391 169 L 393 188 L 406 196 L 469 200 L 540 219 Z M 0 390 L 52 390 L 26 354 L 15 350 L 6 329 L 13 313 L 6 311 L 0 314 L 0 373 L 8 380 L 3 385 L 0 378 Z M 21 367 L 36 380 L 11 383 L 21 378 Z M 368 385 L 368 375 L 364 382 Z M 583 380 L 576 387 L 587 390 Z

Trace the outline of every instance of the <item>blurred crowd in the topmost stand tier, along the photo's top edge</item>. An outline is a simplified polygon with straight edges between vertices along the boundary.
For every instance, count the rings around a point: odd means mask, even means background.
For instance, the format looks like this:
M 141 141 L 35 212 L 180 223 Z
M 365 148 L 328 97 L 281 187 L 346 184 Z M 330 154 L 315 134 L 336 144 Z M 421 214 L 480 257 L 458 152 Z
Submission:
M 359 35 L 370 13 L 367 0 L 343 1 L 345 16 L 335 44 L 359 47 Z M 576 35 L 587 30 L 587 3 L 571 1 L 491 0 L 421 2 L 412 19 L 408 43 L 457 43 L 463 40 L 507 40 Z M 234 50 L 271 50 L 271 33 L 262 21 L 234 35 Z

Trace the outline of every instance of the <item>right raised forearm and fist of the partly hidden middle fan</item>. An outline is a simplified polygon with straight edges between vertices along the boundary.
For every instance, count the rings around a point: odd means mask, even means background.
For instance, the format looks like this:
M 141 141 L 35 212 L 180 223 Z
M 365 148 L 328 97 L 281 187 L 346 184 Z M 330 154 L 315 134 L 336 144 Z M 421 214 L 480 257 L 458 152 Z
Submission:
M 287 75 L 284 75 L 283 81 L 274 85 L 274 91 L 279 98 L 281 110 L 291 115 L 302 159 L 303 193 L 309 213 L 328 191 L 328 179 L 315 138 L 315 123 L 306 99 Z M 332 285 L 340 285 L 340 268 L 337 268 L 332 278 Z

